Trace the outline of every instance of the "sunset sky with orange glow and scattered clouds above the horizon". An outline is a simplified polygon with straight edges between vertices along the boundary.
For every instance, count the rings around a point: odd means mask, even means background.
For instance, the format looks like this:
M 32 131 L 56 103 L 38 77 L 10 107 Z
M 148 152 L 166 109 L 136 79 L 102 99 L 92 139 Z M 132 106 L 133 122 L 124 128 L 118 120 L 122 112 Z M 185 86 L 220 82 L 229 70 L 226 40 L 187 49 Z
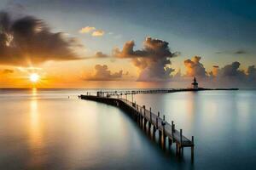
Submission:
M 0 9 L 10 20 L 0 26 L 0 88 L 256 85 L 253 0 L 2 0 Z

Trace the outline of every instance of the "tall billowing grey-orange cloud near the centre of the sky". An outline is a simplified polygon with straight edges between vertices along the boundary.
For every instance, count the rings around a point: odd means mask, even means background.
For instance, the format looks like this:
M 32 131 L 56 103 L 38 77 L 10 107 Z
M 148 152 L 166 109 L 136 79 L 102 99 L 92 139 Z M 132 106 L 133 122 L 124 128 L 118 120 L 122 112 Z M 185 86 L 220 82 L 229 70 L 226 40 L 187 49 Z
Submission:
M 155 82 L 166 81 L 171 78 L 174 71 L 170 65 L 170 59 L 175 56 L 171 52 L 168 42 L 160 39 L 147 37 L 143 42 L 143 49 L 134 50 L 135 42 L 125 42 L 122 50 L 113 49 L 113 56 L 119 59 L 131 59 L 131 63 L 135 65 L 140 73 L 137 81 Z

